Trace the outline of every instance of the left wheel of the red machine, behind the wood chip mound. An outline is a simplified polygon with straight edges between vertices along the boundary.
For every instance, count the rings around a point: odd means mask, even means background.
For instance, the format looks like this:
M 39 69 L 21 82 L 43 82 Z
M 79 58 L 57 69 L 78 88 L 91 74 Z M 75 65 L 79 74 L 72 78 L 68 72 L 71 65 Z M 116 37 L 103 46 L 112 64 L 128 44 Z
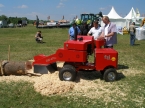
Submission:
M 72 68 L 63 67 L 59 71 L 59 79 L 61 81 L 74 81 L 76 79 L 76 71 Z

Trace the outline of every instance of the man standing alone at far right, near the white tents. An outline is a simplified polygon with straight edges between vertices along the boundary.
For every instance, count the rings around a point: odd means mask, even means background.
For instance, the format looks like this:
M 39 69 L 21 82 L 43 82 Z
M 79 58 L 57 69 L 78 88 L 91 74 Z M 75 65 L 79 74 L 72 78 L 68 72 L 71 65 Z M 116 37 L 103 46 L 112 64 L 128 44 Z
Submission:
M 130 26 L 129 26 L 129 34 L 130 34 L 130 45 L 133 46 L 134 42 L 135 42 L 135 22 L 133 22 Z

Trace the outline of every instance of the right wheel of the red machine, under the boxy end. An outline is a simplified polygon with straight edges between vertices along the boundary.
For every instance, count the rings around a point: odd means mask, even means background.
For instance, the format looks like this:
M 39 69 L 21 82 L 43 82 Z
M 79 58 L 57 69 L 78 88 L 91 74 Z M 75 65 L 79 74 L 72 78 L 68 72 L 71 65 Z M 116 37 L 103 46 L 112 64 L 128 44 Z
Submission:
M 103 79 L 106 82 L 113 82 L 117 79 L 117 72 L 114 68 L 106 69 L 104 72 Z

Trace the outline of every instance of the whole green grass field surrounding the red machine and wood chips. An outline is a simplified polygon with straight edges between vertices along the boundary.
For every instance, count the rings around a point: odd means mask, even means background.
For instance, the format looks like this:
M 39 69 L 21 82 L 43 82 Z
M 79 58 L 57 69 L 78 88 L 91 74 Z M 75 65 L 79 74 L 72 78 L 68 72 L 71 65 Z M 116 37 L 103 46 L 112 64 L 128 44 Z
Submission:
M 35 42 L 34 35 L 38 30 L 42 31 L 43 44 Z M 67 28 L 36 29 L 32 25 L 1 28 L 0 60 L 8 59 L 9 45 L 11 61 L 27 61 L 37 54 L 55 53 L 67 39 Z M 96 97 L 73 93 L 44 96 L 34 90 L 33 83 L 3 81 L 0 82 L 0 108 L 144 108 L 145 41 L 136 40 L 135 46 L 130 46 L 129 35 L 118 35 L 118 44 L 114 49 L 119 54 L 119 80 L 113 83 L 92 80 L 96 88 L 87 92 Z

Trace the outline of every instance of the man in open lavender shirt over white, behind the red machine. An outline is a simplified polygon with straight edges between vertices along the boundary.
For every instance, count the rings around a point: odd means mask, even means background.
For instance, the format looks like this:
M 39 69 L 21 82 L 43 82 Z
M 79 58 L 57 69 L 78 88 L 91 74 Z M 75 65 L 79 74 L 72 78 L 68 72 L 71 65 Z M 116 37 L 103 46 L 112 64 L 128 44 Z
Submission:
M 102 34 L 99 36 L 98 39 L 105 39 L 106 44 L 105 48 L 113 48 L 114 44 L 117 44 L 117 27 L 116 24 L 110 22 L 108 16 L 104 16 L 102 18 L 105 26 L 103 28 Z

